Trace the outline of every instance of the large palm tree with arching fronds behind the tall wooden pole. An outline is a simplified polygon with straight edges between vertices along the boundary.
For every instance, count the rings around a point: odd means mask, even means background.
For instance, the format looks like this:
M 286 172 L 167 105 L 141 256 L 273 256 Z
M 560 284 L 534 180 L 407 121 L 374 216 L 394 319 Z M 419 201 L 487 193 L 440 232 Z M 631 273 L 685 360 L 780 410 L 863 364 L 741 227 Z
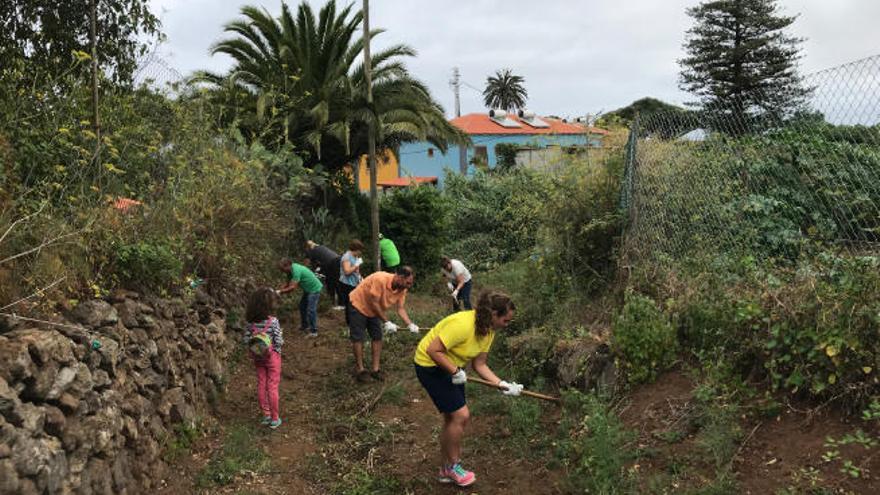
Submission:
M 373 55 L 374 105 L 368 107 L 358 31 L 363 14 L 351 5 L 337 11 L 331 0 L 317 18 L 305 1 L 296 17 L 283 3 L 277 19 L 252 6 L 241 13 L 244 19 L 225 28 L 236 36 L 212 48 L 231 56 L 233 68 L 225 75 L 202 72 L 196 80 L 216 91 L 231 85 L 249 95 L 238 108 L 246 118 L 236 118 L 239 124 L 251 123 L 246 129 L 250 138 L 291 143 L 311 152 L 307 163 L 320 160 L 331 169 L 366 149 L 370 121 L 378 124 L 380 149 L 427 140 L 445 151 L 450 142 L 466 140 L 446 121 L 424 84 L 407 71 L 401 59 L 415 55 L 409 46 L 394 45 Z M 371 37 L 382 32 L 373 30 Z

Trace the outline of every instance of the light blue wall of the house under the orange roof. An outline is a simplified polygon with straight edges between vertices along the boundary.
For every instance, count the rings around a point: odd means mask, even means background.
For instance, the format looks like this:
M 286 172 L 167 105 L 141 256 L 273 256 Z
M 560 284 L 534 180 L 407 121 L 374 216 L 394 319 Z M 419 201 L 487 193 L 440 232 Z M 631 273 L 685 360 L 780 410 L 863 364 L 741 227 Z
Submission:
M 583 146 L 587 144 L 585 134 L 474 134 L 471 135 L 473 146 L 467 150 L 467 162 L 474 157 L 474 146 L 485 146 L 490 167 L 497 163 L 495 145 L 500 143 L 517 144 L 544 148 L 546 146 Z M 590 139 L 591 146 L 599 146 L 598 139 Z M 438 185 L 443 186 L 446 176 L 445 169 L 459 171 L 458 146 L 450 146 L 446 154 L 440 153 L 433 144 L 428 142 L 405 143 L 400 146 L 400 175 L 436 176 Z M 433 156 L 432 156 L 433 155 Z M 468 173 L 473 166 L 468 165 Z

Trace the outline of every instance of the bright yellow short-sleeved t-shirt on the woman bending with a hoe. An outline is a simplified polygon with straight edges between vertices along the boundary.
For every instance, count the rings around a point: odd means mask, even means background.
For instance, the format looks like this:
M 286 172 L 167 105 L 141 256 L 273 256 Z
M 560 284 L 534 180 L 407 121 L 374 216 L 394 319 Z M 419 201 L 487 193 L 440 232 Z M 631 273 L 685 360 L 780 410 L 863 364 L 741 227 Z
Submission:
M 476 313 L 473 310 L 449 315 L 422 337 L 413 358 L 417 365 L 437 366 L 428 355 L 428 345 L 437 337 L 440 337 L 440 341 L 446 346 L 446 355 L 452 363 L 462 367 L 481 352 L 489 352 L 492 341 L 495 340 L 495 331 L 490 330 L 485 337 L 477 337 Z

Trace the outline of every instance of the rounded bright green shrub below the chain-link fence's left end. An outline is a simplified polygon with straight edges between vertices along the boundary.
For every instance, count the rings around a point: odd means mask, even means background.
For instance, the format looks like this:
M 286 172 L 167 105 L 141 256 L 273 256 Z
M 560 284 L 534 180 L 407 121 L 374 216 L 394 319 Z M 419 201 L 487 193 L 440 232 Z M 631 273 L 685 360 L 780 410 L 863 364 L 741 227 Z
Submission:
M 651 298 L 627 292 L 612 331 L 612 347 L 633 383 L 652 380 L 675 360 L 675 330 Z

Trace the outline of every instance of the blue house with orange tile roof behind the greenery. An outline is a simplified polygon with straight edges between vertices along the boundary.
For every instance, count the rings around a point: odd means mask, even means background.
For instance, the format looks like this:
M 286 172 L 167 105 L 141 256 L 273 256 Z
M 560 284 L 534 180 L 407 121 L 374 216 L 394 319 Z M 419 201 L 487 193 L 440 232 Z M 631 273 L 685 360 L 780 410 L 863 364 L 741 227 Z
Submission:
M 443 154 L 427 142 L 405 143 L 399 150 L 401 176 L 437 177 L 443 184 L 446 170 L 472 172 L 473 163 L 482 162 L 495 167 L 495 146 L 514 144 L 531 149 L 548 146 L 600 146 L 606 131 L 586 127 L 563 119 L 538 117 L 521 112 L 519 115 L 503 111 L 471 113 L 450 122 L 467 133 L 472 144 L 462 153 L 458 146 L 450 146 Z

